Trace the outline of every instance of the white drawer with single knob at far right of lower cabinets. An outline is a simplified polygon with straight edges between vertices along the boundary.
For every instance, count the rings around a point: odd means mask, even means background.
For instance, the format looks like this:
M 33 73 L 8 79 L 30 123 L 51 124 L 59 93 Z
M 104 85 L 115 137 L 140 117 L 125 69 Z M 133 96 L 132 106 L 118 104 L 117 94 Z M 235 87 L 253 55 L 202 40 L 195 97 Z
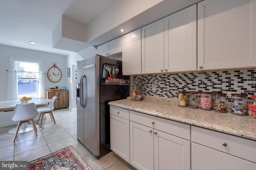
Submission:
M 191 141 L 256 162 L 256 141 L 195 126 L 191 127 Z

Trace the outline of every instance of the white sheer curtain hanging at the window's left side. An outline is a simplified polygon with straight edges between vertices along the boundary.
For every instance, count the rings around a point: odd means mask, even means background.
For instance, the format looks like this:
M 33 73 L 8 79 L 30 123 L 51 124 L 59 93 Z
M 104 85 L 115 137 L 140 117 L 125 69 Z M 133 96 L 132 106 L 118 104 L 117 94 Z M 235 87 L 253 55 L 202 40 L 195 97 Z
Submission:
M 8 70 L 8 82 L 7 82 L 7 100 L 18 99 L 18 82 L 17 71 Z

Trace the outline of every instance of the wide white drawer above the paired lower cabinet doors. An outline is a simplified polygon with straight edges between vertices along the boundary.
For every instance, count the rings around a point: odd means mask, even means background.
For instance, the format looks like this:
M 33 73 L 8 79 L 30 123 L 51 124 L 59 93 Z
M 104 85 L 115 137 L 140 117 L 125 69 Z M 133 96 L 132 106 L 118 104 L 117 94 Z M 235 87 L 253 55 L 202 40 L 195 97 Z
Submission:
M 190 125 L 184 123 L 147 115 L 136 111 L 130 111 L 130 121 L 134 121 L 153 129 L 190 140 Z

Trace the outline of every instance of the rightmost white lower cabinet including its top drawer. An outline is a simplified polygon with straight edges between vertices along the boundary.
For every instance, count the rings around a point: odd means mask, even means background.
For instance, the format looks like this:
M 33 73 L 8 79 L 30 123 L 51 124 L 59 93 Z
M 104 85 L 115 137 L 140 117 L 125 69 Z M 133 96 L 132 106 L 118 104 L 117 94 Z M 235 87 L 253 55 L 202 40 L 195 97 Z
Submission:
M 256 170 L 256 141 L 191 127 L 191 170 Z

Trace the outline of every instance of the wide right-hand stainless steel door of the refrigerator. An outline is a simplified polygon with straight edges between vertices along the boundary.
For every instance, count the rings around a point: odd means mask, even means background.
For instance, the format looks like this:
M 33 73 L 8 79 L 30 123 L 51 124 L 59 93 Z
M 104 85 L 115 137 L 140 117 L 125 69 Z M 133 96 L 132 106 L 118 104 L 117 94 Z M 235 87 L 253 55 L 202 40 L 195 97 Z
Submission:
M 100 155 L 100 69 L 99 57 L 84 60 L 84 145 Z

